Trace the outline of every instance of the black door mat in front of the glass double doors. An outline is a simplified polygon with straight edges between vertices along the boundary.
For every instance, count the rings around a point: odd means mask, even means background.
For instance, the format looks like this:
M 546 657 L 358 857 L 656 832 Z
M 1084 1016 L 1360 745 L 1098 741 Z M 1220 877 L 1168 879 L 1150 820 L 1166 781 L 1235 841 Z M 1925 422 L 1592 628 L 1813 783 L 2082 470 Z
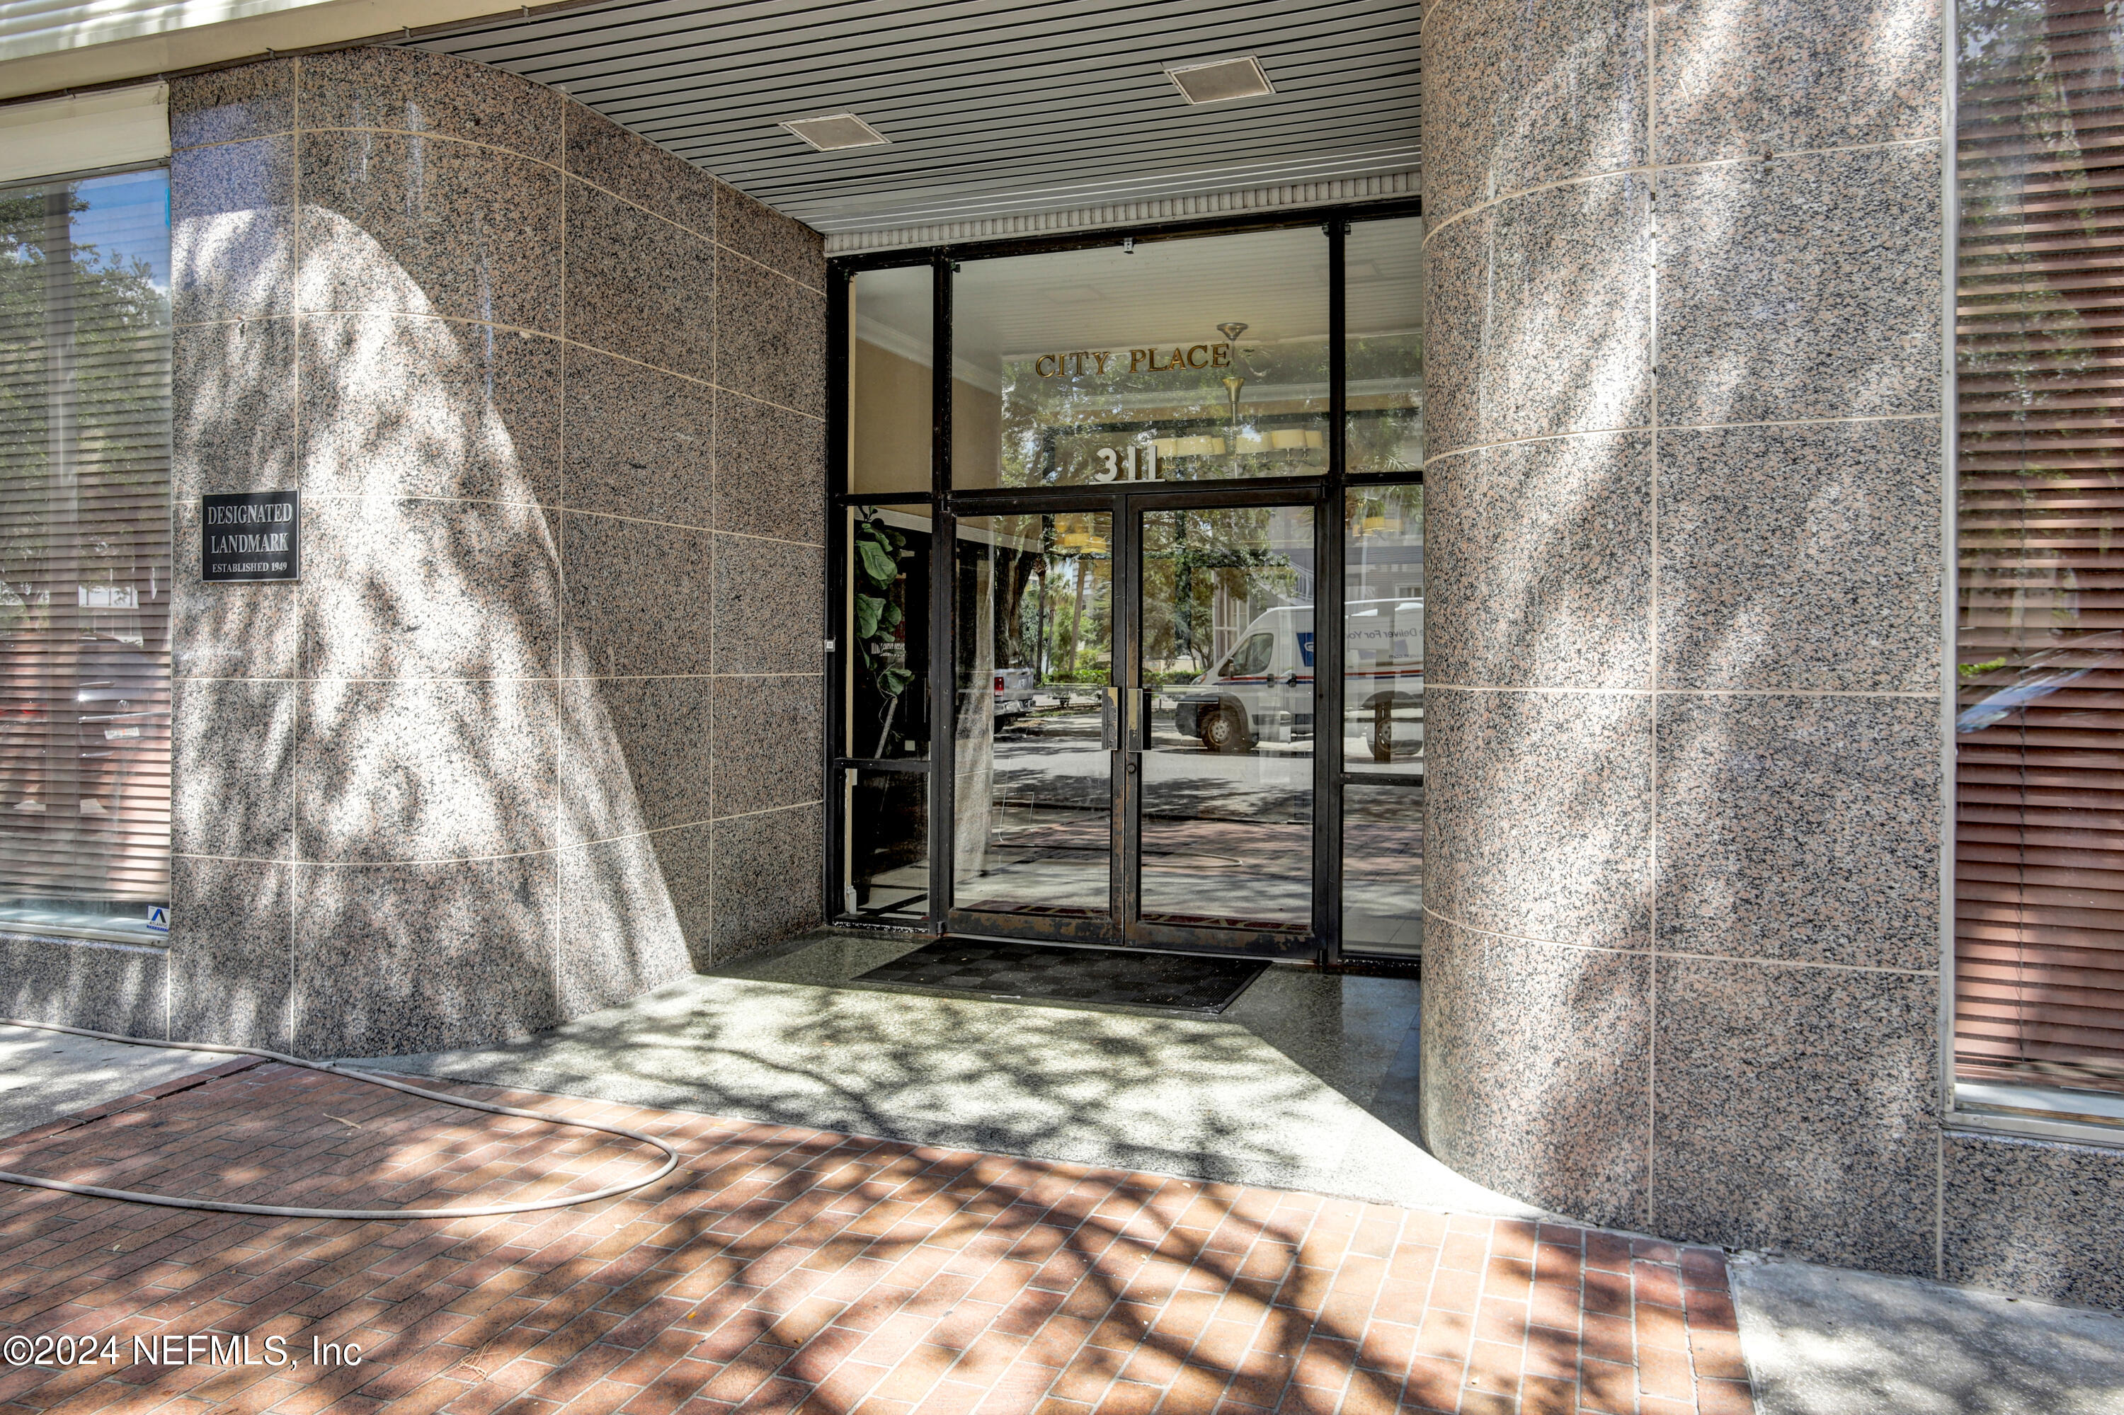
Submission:
M 943 941 L 924 943 L 852 982 L 1026 1003 L 1104 1003 L 1215 1016 L 1238 1001 L 1264 971 L 1268 965 L 1255 958 Z

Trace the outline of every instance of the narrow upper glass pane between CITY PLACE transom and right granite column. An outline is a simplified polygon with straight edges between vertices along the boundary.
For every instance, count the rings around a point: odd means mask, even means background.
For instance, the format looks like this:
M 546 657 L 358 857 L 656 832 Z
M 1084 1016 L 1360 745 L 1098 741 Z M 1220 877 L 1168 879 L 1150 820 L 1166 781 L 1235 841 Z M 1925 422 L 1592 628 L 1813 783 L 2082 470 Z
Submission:
M 1423 470 L 1423 219 L 1357 221 L 1342 238 L 1349 472 Z

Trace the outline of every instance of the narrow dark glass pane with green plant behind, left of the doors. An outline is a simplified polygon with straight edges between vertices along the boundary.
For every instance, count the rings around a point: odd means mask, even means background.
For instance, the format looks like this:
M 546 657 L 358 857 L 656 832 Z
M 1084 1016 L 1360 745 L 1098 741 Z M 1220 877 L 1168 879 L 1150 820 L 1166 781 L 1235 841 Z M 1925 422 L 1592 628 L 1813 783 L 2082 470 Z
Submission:
M 852 506 L 845 514 L 841 752 L 864 761 L 928 756 L 928 508 Z

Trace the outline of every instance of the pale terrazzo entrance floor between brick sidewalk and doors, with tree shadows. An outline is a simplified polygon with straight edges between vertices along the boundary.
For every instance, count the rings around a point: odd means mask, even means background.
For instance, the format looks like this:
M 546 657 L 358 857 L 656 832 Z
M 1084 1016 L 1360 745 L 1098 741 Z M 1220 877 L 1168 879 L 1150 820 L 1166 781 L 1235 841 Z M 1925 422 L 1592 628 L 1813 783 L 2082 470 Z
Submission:
M 391 1071 L 850 1135 L 1534 1217 L 1417 1139 L 1417 982 L 1274 967 L 1215 1020 L 852 988 L 822 933 L 527 1041 Z

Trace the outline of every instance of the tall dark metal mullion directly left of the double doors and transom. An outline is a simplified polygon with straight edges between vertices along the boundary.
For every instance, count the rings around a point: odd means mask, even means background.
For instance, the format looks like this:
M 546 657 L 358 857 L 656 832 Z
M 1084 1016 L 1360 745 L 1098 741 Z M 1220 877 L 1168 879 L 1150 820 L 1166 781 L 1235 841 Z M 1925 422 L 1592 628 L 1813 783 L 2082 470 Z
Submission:
M 939 933 L 952 914 L 958 860 L 954 729 L 958 727 L 958 525 L 952 514 L 952 261 L 930 261 L 930 909 Z

